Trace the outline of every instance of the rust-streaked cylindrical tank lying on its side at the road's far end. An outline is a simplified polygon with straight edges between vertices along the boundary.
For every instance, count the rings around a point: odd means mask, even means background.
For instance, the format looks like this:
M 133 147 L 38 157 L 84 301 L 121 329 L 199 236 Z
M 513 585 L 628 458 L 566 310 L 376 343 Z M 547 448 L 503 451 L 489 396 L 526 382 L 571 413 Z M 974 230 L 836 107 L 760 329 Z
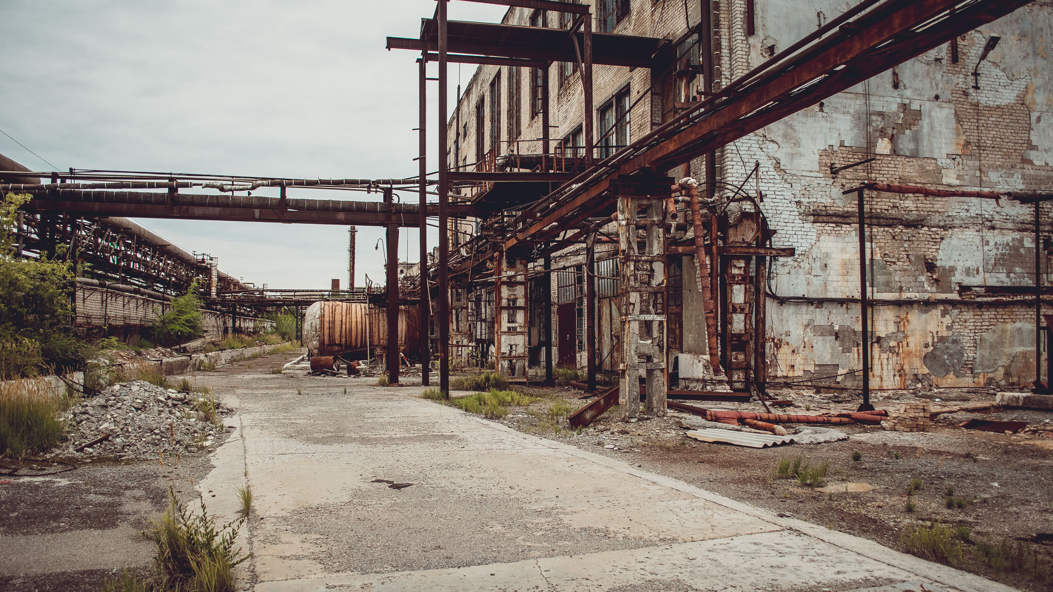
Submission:
M 398 347 L 403 354 L 420 350 L 419 318 L 417 307 L 399 307 Z M 303 319 L 303 344 L 312 356 L 369 355 L 366 349 L 388 347 L 388 311 L 364 302 L 315 302 Z

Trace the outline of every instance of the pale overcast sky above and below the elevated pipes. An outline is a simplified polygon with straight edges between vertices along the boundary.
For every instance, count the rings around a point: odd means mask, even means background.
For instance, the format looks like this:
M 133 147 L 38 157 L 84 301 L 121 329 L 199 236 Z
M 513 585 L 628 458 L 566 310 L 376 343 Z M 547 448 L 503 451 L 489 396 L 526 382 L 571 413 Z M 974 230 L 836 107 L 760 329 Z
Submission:
M 452 2 L 450 18 L 497 22 L 504 9 Z M 416 55 L 388 52 L 384 37 L 418 36 L 434 11 L 434 0 L 0 0 L 0 130 L 60 171 L 411 177 Z M 451 93 L 472 72 L 452 64 Z M 431 82 L 433 132 L 435 91 Z M 434 170 L 434 134 L 429 150 Z M 52 170 L 3 135 L 0 154 Z M 138 221 L 245 281 L 346 285 L 346 226 Z M 409 234 L 399 258 L 416 261 Z M 359 285 L 364 274 L 383 281 L 383 248 L 374 251 L 382 236 L 359 228 Z

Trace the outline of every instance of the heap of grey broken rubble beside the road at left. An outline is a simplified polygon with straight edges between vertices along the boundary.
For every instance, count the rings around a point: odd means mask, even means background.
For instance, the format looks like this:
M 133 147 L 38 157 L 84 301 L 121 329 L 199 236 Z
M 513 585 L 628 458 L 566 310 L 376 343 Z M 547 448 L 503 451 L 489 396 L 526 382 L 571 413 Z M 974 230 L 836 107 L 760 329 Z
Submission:
M 215 413 L 212 409 L 212 400 L 199 393 L 121 382 L 69 410 L 67 437 L 56 453 L 157 458 L 161 452 L 198 452 L 223 429 L 225 410 L 218 403 Z

